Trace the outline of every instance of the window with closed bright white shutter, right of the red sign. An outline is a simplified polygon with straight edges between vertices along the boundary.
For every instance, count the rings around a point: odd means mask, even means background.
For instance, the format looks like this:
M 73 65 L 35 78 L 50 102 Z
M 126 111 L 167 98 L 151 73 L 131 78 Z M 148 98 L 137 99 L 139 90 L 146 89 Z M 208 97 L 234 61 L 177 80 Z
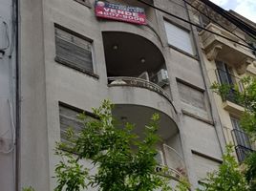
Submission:
M 181 51 L 194 55 L 194 48 L 190 32 L 164 21 L 164 27 L 167 34 L 168 43 L 177 47 Z

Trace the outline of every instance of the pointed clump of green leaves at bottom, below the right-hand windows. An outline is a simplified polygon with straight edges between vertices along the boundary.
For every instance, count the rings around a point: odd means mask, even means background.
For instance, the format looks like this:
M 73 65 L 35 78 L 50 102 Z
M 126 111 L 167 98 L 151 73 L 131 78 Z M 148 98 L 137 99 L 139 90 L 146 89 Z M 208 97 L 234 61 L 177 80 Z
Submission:
M 223 156 L 223 163 L 219 170 L 208 173 L 205 182 L 207 191 L 247 191 L 248 185 L 245 176 L 239 169 L 239 164 L 232 156 L 232 147 L 226 146 L 226 153 Z M 200 191 L 200 189 L 198 189 Z

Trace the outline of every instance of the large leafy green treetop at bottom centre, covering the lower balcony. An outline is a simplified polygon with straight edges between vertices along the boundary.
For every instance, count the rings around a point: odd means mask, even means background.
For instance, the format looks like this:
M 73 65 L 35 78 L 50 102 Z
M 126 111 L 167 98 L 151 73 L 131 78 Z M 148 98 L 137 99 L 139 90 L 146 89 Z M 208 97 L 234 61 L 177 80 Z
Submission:
M 112 109 L 110 101 L 104 100 L 98 109 L 93 109 L 97 120 L 87 120 L 84 114 L 80 114 L 78 118 L 84 128 L 79 135 L 75 136 L 69 130 L 70 143 L 57 145 L 55 153 L 65 161 L 61 160 L 55 167 L 57 186 L 54 191 L 78 191 L 86 186 L 102 191 L 173 190 L 168 179 L 155 172 L 156 145 L 160 140 L 156 134 L 159 115 L 151 117 L 149 124 L 145 125 L 143 138 L 139 138 L 134 133 L 133 124 L 126 123 L 117 128 L 121 124 L 112 116 Z M 63 148 L 69 152 L 64 152 Z M 83 159 L 92 162 L 95 174 L 78 164 Z M 183 180 L 175 190 L 185 191 L 188 187 Z

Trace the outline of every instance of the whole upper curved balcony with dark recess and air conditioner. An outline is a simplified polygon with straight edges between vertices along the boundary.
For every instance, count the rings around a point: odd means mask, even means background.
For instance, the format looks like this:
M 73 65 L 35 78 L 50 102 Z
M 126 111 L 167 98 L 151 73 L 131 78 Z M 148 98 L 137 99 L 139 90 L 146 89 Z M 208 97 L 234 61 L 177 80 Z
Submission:
M 155 108 L 176 120 L 158 45 L 131 32 L 102 32 L 109 95 L 115 104 Z

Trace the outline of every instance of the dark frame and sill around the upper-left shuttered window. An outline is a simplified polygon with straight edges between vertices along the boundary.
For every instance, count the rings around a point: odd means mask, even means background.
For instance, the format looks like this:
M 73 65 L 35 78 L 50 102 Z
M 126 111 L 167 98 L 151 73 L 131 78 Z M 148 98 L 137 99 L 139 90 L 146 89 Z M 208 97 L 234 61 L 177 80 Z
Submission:
M 71 61 L 69 60 L 65 60 L 64 58 L 61 58 L 59 57 L 57 54 L 56 54 L 56 34 L 55 34 L 55 30 L 60 30 L 60 31 L 63 31 L 63 32 L 67 32 L 67 33 L 70 33 L 71 35 L 75 36 L 75 37 L 78 37 L 78 38 L 81 38 L 82 40 L 84 41 L 87 41 L 88 43 L 90 43 L 90 48 L 91 48 L 91 53 L 92 53 L 92 72 L 91 71 L 87 71 L 87 70 L 83 70 L 79 67 L 76 67 L 74 63 L 72 63 Z M 69 42 L 69 41 L 68 41 Z M 71 69 L 74 69 L 75 71 L 78 71 L 78 72 L 81 72 L 83 74 L 88 74 L 88 75 L 91 75 L 95 78 L 99 78 L 99 76 L 97 74 L 95 74 L 95 71 L 96 71 L 96 55 L 95 55 L 95 48 L 94 48 L 94 41 L 80 33 L 77 33 L 77 32 L 74 32 L 70 29 L 67 29 L 61 25 L 58 25 L 56 23 L 54 23 L 54 43 L 55 43 L 55 57 L 54 57 L 54 61 L 59 63 L 59 64 L 62 64 L 64 66 L 67 66 Z M 72 42 L 69 42 L 69 43 L 72 43 Z M 77 47 L 79 47 L 78 45 L 75 45 Z

